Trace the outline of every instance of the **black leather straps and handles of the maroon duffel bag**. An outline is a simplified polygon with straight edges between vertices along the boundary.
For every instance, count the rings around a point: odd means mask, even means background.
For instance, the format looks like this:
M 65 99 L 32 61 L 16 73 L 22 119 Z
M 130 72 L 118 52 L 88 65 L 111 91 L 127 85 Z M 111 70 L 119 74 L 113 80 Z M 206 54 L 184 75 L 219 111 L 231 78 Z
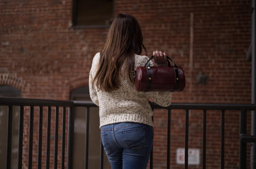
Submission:
M 148 61 L 145 64 L 146 71 L 148 72 L 148 85 L 145 90 L 146 92 L 149 91 L 151 88 L 152 73 L 151 73 L 151 67 L 150 67 L 150 60 L 153 58 L 154 58 L 154 56 L 151 56 L 150 59 L 148 59 Z M 170 67 L 170 61 L 172 61 L 172 59 L 169 56 L 166 56 L 166 58 L 167 58 L 167 62 L 168 62 L 168 67 Z M 178 77 L 178 67 L 174 61 L 172 61 L 172 62 L 174 63 L 174 73 L 175 73 L 175 87 L 172 91 L 175 91 L 175 89 L 178 89 L 178 81 L 180 80 L 180 78 Z

